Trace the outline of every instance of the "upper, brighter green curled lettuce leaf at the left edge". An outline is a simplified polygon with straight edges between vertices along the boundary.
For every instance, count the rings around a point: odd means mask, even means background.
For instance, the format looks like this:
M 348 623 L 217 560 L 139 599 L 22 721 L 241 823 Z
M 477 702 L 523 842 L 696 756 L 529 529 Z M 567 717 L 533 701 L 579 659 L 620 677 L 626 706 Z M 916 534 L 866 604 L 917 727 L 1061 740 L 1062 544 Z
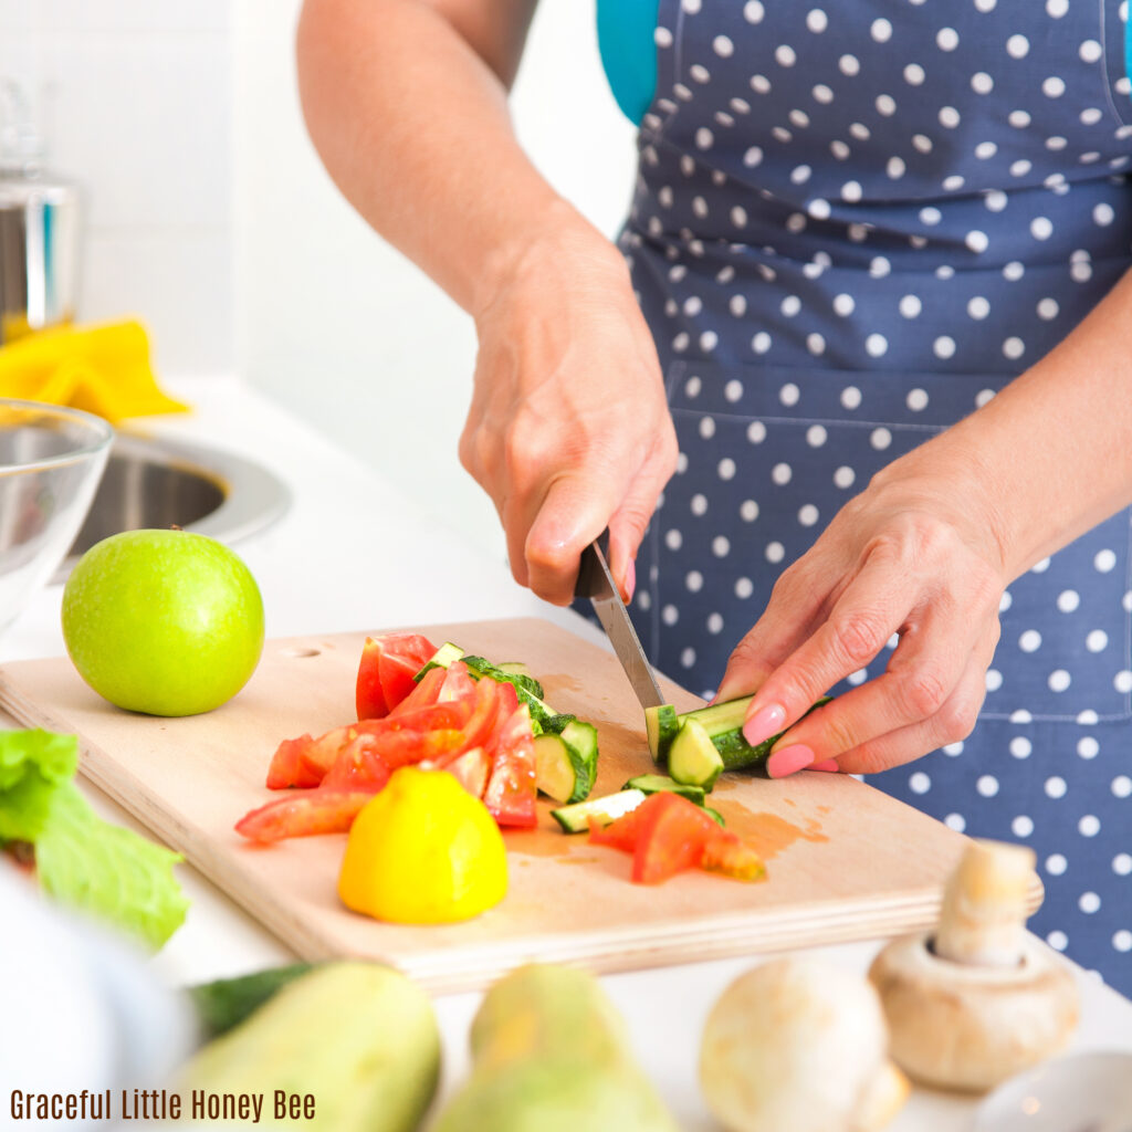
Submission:
M 0 842 L 36 841 L 55 790 L 77 767 L 74 735 L 0 731 Z

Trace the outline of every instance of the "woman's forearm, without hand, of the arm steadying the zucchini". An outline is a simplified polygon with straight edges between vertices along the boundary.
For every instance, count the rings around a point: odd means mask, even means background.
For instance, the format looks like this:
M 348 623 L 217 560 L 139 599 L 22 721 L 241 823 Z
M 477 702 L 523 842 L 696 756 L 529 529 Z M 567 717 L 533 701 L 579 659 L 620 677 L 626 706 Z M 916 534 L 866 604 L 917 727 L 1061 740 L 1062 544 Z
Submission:
M 1132 273 L 980 410 L 878 483 L 945 474 L 985 509 L 1007 578 L 1132 504 Z

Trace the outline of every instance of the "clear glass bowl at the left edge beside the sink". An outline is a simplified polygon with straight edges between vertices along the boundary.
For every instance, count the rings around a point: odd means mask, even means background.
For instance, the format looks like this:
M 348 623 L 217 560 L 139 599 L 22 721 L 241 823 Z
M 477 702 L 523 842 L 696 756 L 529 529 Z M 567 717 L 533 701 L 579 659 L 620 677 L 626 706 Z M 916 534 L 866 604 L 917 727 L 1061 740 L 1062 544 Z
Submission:
M 113 438 L 101 417 L 0 397 L 0 633 L 66 557 Z

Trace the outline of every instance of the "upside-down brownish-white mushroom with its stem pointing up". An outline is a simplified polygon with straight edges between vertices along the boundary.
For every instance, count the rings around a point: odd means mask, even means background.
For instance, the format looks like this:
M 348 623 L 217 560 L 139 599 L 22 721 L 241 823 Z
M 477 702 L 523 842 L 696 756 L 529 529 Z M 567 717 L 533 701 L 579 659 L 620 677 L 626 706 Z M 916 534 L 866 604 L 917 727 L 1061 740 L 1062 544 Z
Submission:
M 1024 931 L 1034 855 L 971 844 L 947 883 L 936 933 L 874 960 L 893 1060 L 925 1084 L 983 1091 L 1061 1049 L 1078 1020 L 1066 966 Z

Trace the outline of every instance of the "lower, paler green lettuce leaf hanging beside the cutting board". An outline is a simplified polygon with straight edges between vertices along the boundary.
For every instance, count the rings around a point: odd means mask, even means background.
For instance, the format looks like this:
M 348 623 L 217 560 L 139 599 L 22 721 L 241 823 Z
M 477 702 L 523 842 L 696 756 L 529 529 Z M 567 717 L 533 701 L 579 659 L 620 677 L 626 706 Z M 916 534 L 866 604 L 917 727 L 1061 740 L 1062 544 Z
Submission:
M 153 949 L 185 923 L 189 902 L 173 876 L 183 858 L 104 822 L 74 783 L 61 784 L 35 841 L 43 890 L 126 929 Z

